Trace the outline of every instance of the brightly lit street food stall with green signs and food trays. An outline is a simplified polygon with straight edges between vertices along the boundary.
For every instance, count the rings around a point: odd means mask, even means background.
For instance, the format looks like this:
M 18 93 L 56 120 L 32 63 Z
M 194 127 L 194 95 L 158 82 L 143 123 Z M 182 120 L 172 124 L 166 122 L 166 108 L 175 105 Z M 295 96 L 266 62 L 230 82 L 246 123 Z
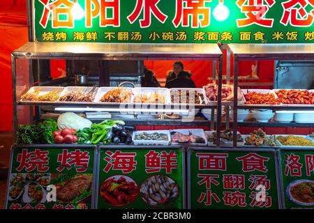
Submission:
M 260 20 L 240 10 L 253 1 L 183 1 L 29 1 L 6 208 L 314 207 L 314 90 L 287 77 L 311 82 L 306 24 L 274 1 Z M 146 87 L 147 61 L 207 71 L 174 78 L 195 88 Z

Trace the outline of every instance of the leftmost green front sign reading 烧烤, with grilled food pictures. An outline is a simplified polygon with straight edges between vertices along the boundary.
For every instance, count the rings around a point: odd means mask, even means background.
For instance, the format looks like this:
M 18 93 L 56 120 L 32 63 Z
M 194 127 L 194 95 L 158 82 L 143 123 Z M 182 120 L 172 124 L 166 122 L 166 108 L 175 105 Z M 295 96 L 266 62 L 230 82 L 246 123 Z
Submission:
M 14 148 L 6 208 L 91 208 L 95 149 L 94 146 Z

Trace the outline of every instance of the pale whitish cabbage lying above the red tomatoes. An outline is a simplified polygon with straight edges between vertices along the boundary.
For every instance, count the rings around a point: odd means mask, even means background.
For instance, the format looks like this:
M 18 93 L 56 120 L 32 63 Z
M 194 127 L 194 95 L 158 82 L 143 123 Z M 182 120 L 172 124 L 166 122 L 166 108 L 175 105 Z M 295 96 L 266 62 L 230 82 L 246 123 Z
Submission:
M 75 130 L 82 130 L 83 128 L 91 128 L 91 121 L 86 118 L 82 118 L 73 112 L 66 112 L 61 114 L 58 118 L 58 128 L 74 128 Z

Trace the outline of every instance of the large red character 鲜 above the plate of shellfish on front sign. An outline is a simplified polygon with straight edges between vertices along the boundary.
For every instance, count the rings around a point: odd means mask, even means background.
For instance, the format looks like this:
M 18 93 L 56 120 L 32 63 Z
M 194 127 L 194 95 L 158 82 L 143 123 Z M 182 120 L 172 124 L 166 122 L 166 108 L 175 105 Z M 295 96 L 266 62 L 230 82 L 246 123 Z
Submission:
M 147 174 L 160 172 L 160 169 L 165 169 L 167 174 L 171 174 L 172 169 L 178 169 L 178 155 L 174 151 L 169 153 L 149 151 L 145 155 L 145 166 Z

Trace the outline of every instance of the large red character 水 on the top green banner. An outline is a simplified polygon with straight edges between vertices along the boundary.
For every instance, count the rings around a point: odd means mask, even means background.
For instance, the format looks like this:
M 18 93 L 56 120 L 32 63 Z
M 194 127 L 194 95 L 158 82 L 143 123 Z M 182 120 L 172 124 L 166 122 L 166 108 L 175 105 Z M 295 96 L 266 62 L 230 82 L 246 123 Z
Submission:
M 167 20 L 167 15 L 163 14 L 158 8 L 157 4 L 159 1 L 160 0 L 137 0 L 135 9 L 127 17 L 130 24 L 133 24 L 142 12 L 143 19 L 140 20 L 141 28 L 147 28 L 151 26 L 151 14 L 154 14 L 159 22 L 165 23 Z

